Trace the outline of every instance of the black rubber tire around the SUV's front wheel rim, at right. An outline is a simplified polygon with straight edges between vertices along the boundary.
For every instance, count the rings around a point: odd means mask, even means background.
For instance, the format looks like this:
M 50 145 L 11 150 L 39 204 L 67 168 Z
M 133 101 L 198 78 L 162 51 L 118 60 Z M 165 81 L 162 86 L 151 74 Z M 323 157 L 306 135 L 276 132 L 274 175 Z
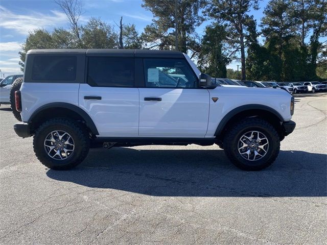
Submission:
M 245 159 L 239 152 L 239 140 L 242 135 L 249 131 L 263 133 L 269 142 L 266 155 L 255 161 Z M 260 118 L 247 118 L 232 125 L 224 137 L 223 144 L 228 159 L 235 166 L 247 171 L 257 171 L 270 166 L 278 156 L 281 146 L 279 135 L 275 128 L 269 122 Z

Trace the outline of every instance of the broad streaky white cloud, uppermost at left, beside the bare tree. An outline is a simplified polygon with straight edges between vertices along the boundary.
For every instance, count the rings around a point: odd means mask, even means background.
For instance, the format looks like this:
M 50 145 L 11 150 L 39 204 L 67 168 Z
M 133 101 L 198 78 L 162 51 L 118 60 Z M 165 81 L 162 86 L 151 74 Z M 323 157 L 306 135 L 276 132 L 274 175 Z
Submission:
M 0 6 L 0 16 L 0 27 L 25 35 L 35 29 L 58 27 L 60 24 L 67 23 L 66 15 L 54 10 L 51 11 L 51 14 L 32 12 L 21 15 Z

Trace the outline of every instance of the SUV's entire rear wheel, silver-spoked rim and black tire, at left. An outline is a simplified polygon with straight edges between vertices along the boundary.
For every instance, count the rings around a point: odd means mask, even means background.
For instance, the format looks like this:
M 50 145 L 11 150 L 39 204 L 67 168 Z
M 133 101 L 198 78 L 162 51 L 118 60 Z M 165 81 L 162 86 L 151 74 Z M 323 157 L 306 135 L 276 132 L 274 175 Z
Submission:
M 81 163 L 89 151 L 89 137 L 83 125 L 66 118 L 45 121 L 35 132 L 33 148 L 46 167 L 66 170 Z

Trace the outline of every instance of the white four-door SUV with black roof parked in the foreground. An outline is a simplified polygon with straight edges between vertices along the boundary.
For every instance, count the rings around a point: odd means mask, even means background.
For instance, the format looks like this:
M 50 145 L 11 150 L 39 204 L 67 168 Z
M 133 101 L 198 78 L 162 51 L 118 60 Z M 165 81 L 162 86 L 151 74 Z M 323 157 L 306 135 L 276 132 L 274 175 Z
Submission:
M 289 93 L 213 85 L 176 51 L 32 50 L 25 67 L 14 130 L 34 135 L 37 158 L 53 169 L 76 166 L 99 143 L 216 143 L 236 166 L 260 170 L 295 128 Z

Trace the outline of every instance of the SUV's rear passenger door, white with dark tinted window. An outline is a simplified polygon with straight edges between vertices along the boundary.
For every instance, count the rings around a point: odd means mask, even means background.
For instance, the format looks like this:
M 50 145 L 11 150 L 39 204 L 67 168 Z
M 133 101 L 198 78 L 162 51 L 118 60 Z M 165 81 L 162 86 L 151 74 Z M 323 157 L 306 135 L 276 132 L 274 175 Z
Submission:
M 88 112 L 100 136 L 137 136 L 139 95 L 134 87 L 134 54 L 126 51 L 117 57 L 108 52 L 87 55 L 87 78 L 80 85 L 79 106 Z

